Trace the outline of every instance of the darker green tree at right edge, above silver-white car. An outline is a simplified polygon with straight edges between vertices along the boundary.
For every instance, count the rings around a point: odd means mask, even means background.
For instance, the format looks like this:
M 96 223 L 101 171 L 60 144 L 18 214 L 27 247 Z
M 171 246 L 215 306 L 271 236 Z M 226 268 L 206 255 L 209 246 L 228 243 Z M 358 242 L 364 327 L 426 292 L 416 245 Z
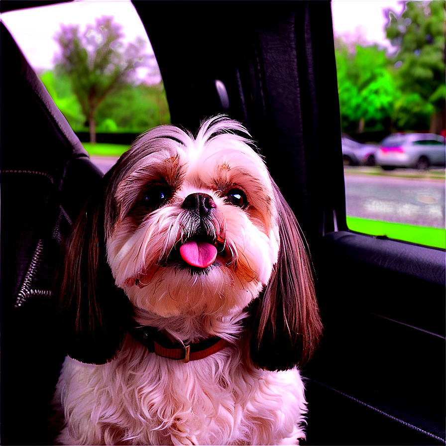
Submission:
M 394 121 L 415 129 L 430 119 L 431 131 L 440 132 L 445 128 L 445 1 L 407 1 L 401 13 L 386 9 L 385 14 L 387 38 L 398 48 L 393 63 L 402 92 Z

